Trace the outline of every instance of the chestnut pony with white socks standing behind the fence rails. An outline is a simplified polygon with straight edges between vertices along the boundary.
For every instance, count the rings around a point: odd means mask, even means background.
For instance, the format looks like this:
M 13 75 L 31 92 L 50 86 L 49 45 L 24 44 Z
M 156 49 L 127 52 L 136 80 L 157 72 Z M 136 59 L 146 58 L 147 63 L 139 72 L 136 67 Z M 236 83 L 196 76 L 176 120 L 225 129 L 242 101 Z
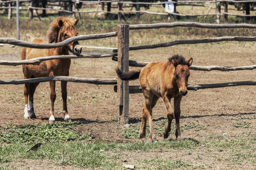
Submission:
M 58 43 L 70 37 L 77 36 L 78 32 L 74 28 L 78 20 L 70 17 L 58 17 L 54 20 L 47 32 L 48 42 L 44 39 L 34 38 L 33 43 Z M 66 46 L 51 49 L 23 48 L 21 59 L 33 59 L 36 57 L 45 57 L 51 55 L 68 55 L 69 52 L 80 55 L 82 48 L 77 41 Z M 42 62 L 40 65 L 24 64 L 22 65 L 24 78 L 37 78 L 44 76 L 68 76 L 70 59 L 54 59 Z M 24 89 L 25 109 L 24 118 L 36 118 L 33 107 L 33 95 L 39 83 L 26 83 Z M 53 123 L 54 118 L 54 101 L 56 99 L 55 81 L 50 81 L 51 87 L 51 112 L 49 122 Z M 70 117 L 67 111 L 67 81 L 61 81 L 61 94 L 63 100 L 64 120 Z M 29 104 L 28 104 L 29 96 Z

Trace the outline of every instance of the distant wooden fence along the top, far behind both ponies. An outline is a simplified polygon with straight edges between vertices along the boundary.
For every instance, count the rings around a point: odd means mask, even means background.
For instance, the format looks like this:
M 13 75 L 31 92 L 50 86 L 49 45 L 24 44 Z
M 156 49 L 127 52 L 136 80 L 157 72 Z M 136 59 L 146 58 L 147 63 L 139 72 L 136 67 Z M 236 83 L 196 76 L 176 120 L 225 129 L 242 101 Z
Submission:
M 0 10 L 8 10 L 8 18 L 12 18 L 12 10 L 16 9 L 16 7 L 13 7 L 13 4 L 16 3 L 17 0 L 9 0 L 9 1 L 1 1 L 0 4 L 4 4 L 4 6 L 0 7 Z M 198 14 L 189 14 L 189 13 L 179 13 L 178 11 L 174 11 L 173 13 L 166 13 L 166 12 L 153 12 L 153 11 L 143 11 L 140 10 L 140 6 L 148 5 L 148 6 L 163 6 L 164 2 L 158 2 L 158 3 L 143 3 L 136 1 L 136 3 L 128 1 L 128 0 L 112 0 L 112 1 L 79 1 L 79 3 L 83 3 L 82 8 L 77 8 L 77 2 L 76 0 L 65 0 L 65 1 L 55 1 L 55 0 L 45 0 L 49 3 L 47 5 L 43 5 L 44 8 L 39 8 L 38 5 L 36 6 L 35 0 L 28 1 L 28 0 L 19 0 L 20 3 L 29 3 L 29 6 L 22 6 L 19 9 L 20 10 L 28 10 L 29 11 L 29 18 L 33 18 L 33 10 L 36 10 L 36 15 L 40 19 L 40 15 L 38 14 L 37 10 L 43 10 L 43 14 L 45 13 L 45 10 L 50 11 L 58 11 L 58 12 L 65 12 L 68 14 L 72 14 L 76 16 L 76 13 L 81 15 L 81 13 L 105 13 L 105 14 L 115 14 L 118 15 L 118 20 L 121 20 L 122 16 L 125 19 L 125 14 L 136 14 L 136 17 L 140 17 L 141 13 L 150 14 L 150 15 L 166 15 L 166 16 L 179 16 L 179 17 L 196 17 L 196 16 L 204 16 L 207 17 L 209 15 L 216 16 L 216 22 L 220 23 L 220 17 L 223 16 L 225 20 L 228 20 L 228 15 L 230 16 L 239 16 L 239 17 L 246 17 L 247 19 L 250 19 L 250 17 L 256 17 L 256 15 L 250 15 L 250 3 L 256 3 L 255 0 L 246 0 L 246 1 L 234 1 L 234 0 L 215 0 L 215 1 L 172 1 L 172 3 L 176 6 L 202 6 L 205 8 L 208 8 L 208 10 L 205 11 L 205 13 L 198 13 Z M 61 3 L 64 3 L 63 5 Z M 70 4 L 67 4 L 70 3 Z M 104 10 L 104 4 L 108 5 L 108 10 Z M 236 4 L 245 4 L 244 9 L 246 11 L 246 15 L 239 15 L 236 13 L 228 13 L 228 5 Z M 111 5 L 112 4 L 112 5 Z M 213 4 L 215 4 L 214 13 L 209 13 L 211 9 L 213 9 Z M 93 5 L 93 8 L 95 10 L 92 11 L 83 11 L 83 8 L 88 8 L 88 6 Z M 110 6 L 109 6 L 110 5 Z M 69 7 L 67 7 L 69 6 Z M 72 7 L 74 6 L 74 8 Z M 99 6 L 101 6 L 101 10 L 99 10 Z M 136 10 L 126 10 L 124 11 L 124 8 L 132 8 L 132 6 L 135 6 Z M 223 6 L 223 13 L 221 13 L 221 6 Z M 63 10 L 64 8 L 64 10 Z M 69 8 L 69 9 L 68 9 Z M 111 8 L 117 8 L 117 11 L 111 11 Z M 163 7 L 162 7 L 163 8 Z M 234 9 L 232 9 L 234 10 Z M 42 15 L 43 15 L 42 14 Z M 45 14 L 44 14 L 45 15 Z M 95 16 L 95 15 L 94 15 Z

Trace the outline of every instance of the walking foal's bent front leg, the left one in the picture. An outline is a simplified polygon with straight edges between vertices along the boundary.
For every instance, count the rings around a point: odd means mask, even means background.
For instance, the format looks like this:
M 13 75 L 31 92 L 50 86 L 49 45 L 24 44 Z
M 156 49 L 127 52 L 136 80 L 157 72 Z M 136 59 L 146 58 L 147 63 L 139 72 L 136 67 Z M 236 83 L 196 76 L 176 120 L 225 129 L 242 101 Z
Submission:
M 164 100 L 164 104 L 166 106 L 167 118 L 168 118 L 168 122 L 167 122 L 167 125 L 164 130 L 164 139 L 166 139 L 170 135 L 170 131 L 171 131 L 171 124 L 172 124 L 172 119 L 173 119 L 173 109 L 172 109 L 172 106 L 170 103 L 170 101 L 171 101 L 170 97 L 164 96 L 163 100 Z

